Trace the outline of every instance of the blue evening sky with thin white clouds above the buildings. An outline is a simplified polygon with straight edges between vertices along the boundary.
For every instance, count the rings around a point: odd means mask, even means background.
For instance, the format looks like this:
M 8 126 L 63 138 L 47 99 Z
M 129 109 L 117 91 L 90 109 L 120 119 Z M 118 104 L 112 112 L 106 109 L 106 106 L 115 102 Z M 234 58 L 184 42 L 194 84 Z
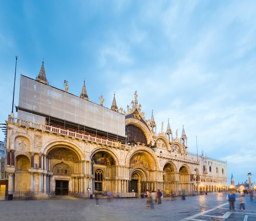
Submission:
M 137 91 L 157 133 L 184 125 L 189 152 L 227 161 L 228 185 L 256 182 L 256 1 L 0 0 L 0 123 L 15 67 L 18 106 L 20 74 L 36 79 L 43 58 L 49 85 L 80 96 L 85 80 L 108 108 Z

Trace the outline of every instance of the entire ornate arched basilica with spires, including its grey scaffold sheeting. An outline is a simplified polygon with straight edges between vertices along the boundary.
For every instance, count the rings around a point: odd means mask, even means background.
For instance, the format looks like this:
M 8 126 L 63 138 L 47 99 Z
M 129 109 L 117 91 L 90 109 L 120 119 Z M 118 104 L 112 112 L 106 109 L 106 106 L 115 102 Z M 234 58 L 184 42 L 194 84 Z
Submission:
M 188 152 L 182 128 L 157 134 L 152 112 L 145 118 L 134 100 L 118 109 L 89 101 L 85 83 L 80 96 L 48 84 L 44 64 L 36 80 L 20 77 L 18 116 L 6 121 L 8 195 L 34 192 L 89 196 L 146 190 L 179 194 L 225 191 L 227 163 Z

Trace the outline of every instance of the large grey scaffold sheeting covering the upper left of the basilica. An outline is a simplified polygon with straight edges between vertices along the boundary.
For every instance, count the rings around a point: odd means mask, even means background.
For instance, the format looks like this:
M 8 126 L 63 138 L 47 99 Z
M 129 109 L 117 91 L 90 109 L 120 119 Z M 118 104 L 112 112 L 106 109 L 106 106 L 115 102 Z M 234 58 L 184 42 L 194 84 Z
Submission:
M 20 76 L 19 107 L 54 118 L 74 122 L 119 136 L 125 136 L 125 116 L 60 89 Z M 43 119 L 27 116 L 31 121 Z M 39 121 L 39 122 L 37 122 Z

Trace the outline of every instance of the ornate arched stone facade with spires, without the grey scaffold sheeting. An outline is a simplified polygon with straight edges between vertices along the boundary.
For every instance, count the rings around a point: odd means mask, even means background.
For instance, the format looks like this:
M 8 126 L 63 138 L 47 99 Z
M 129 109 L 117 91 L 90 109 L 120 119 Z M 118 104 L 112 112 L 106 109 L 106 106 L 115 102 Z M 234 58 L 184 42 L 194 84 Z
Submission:
M 42 68 L 37 81 L 42 77 L 45 82 L 40 83 L 48 85 Z M 87 94 L 83 97 L 88 100 Z M 177 131 L 173 137 L 169 122 L 166 132 L 162 123 L 157 134 L 153 113 L 146 120 L 141 107 L 137 92 L 125 111 L 117 109 L 114 95 L 111 111 L 125 115 L 125 140 L 81 131 L 76 126 L 63 127 L 49 121 L 42 124 L 9 115 L 5 168 L 9 194 L 89 196 L 97 189 L 140 196 L 157 189 L 177 194 L 183 189 L 188 194 L 227 190 L 226 162 L 189 153 L 184 128 L 181 137 Z

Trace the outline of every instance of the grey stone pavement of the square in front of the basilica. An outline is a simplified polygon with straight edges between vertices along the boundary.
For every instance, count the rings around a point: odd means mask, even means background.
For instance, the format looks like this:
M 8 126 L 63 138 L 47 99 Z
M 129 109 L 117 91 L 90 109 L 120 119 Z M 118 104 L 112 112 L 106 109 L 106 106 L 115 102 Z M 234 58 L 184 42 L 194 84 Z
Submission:
M 0 201 L 0 221 L 256 221 L 256 200 L 245 196 L 245 212 L 229 211 L 227 193 L 162 199 L 154 209 L 146 208 L 146 198 L 81 199 L 58 197 L 42 200 Z M 239 196 L 239 194 L 237 194 Z M 237 197 L 238 198 L 238 197 Z

